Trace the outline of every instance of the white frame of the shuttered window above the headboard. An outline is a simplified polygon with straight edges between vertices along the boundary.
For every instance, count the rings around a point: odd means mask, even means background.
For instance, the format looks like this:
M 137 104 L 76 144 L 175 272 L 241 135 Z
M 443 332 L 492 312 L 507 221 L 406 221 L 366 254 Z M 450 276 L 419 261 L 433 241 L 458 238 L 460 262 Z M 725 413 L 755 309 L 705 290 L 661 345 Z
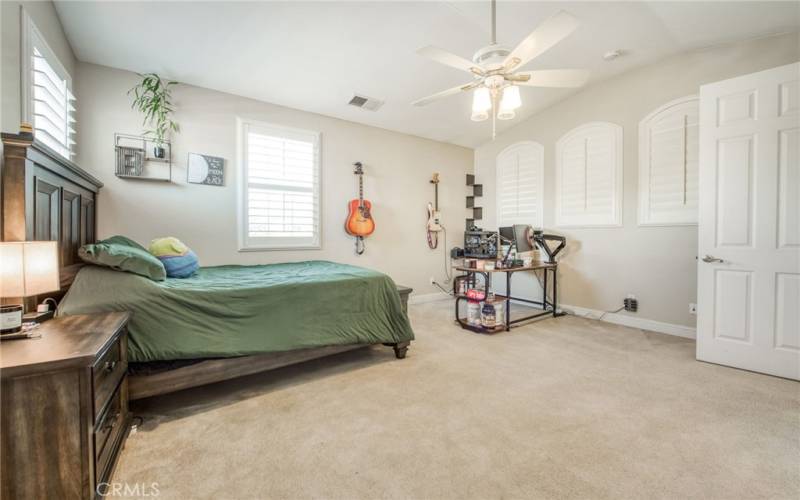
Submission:
M 72 75 L 69 74 L 67 68 L 61 62 L 61 60 L 56 56 L 56 53 L 53 49 L 50 48 L 50 45 L 47 43 L 42 32 L 36 26 L 36 23 L 33 21 L 33 18 L 28 14 L 28 12 L 24 9 L 20 9 L 20 93 L 22 97 L 21 110 L 20 116 L 22 121 L 25 123 L 30 123 L 31 126 L 34 128 L 34 135 L 36 129 L 35 123 L 35 116 L 34 116 L 34 109 L 35 109 L 35 92 L 33 90 L 33 49 L 36 47 L 39 49 L 39 52 L 42 54 L 42 57 L 47 61 L 50 65 L 51 69 L 60 77 L 63 78 L 67 83 L 67 93 L 69 95 L 74 95 L 72 92 Z M 66 127 L 69 130 L 70 128 L 70 121 L 69 118 L 72 117 L 72 123 L 76 123 L 75 114 L 77 112 L 69 113 L 67 112 L 67 123 Z M 75 156 L 75 141 L 73 140 L 73 136 L 76 134 L 70 134 L 67 132 L 67 152 L 68 155 L 66 158 L 68 160 L 72 160 Z M 57 153 L 61 153 L 60 151 L 56 151 Z M 62 155 L 63 156 L 63 155 Z

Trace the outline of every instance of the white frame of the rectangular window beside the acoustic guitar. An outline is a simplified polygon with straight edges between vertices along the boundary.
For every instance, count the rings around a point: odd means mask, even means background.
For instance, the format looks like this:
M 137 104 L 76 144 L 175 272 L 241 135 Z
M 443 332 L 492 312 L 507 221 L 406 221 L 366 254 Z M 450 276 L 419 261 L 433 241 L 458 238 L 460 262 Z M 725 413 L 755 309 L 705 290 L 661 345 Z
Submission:
M 248 236 L 248 170 L 247 170 L 247 134 L 251 129 L 263 130 L 267 133 L 279 134 L 279 137 L 290 135 L 311 138 L 314 144 L 314 180 L 312 193 L 316 196 L 314 217 L 317 225 L 311 238 L 270 238 Z M 237 226 L 238 246 L 240 252 L 262 252 L 281 250 L 321 250 L 322 249 L 322 133 L 313 130 L 299 129 L 275 123 L 236 118 L 236 153 L 237 153 Z

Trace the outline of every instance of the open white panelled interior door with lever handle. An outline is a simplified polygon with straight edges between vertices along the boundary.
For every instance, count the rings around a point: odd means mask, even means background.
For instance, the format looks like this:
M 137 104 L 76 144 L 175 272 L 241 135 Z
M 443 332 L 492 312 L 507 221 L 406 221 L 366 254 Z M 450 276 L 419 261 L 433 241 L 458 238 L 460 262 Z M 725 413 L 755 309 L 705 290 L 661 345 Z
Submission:
M 800 63 L 700 87 L 697 359 L 800 380 Z

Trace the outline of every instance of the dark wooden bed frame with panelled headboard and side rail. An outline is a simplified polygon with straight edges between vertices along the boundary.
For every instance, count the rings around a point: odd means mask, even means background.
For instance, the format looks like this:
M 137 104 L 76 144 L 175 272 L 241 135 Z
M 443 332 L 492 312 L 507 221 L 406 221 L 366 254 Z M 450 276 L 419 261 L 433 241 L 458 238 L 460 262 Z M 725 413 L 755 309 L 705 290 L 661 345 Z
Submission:
M 81 245 L 94 242 L 97 227 L 97 194 L 103 184 L 71 161 L 34 140 L 29 134 L 1 135 L 3 164 L 2 241 L 56 240 L 60 248 L 61 290 L 48 294 L 61 298 L 83 265 L 78 258 Z M 407 311 L 410 288 L 398 287 Z M 44 296 L 26 300 L 33 310 Z M 409 342 L 384 344 L 395 356 L 406 356 Z M 326 346 L 273 352 L 236 358 L 201 360 L 164 371 L 136 374 L 129 380 L 130 399 L 166 394 L 190 387 L 250 375 L 323 356 L 366 347 L 369 344 Z

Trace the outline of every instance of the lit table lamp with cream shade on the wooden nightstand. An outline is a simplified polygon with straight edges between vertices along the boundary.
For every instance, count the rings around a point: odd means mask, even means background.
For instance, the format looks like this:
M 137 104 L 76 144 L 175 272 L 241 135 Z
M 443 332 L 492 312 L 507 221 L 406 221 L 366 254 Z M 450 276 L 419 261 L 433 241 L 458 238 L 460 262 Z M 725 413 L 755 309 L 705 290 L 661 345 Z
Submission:
M 0 242 L 0 298 L 24 298 L 61 288 L 57 241 Z M 22 329 L 23 304 L 0 306 L 0 335 Z

